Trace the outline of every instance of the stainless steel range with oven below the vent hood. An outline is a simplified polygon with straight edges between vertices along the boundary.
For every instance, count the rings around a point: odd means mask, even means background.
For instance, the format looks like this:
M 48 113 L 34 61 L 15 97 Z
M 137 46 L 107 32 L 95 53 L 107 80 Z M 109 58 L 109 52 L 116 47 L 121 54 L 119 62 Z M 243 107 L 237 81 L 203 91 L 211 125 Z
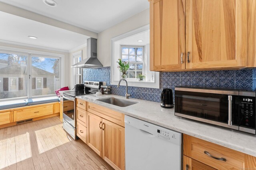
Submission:
M 63 93 L 63 129 L 76 140 L 76 96 L 95 94 L 102 82 L 84 82 L 84 90 Z

